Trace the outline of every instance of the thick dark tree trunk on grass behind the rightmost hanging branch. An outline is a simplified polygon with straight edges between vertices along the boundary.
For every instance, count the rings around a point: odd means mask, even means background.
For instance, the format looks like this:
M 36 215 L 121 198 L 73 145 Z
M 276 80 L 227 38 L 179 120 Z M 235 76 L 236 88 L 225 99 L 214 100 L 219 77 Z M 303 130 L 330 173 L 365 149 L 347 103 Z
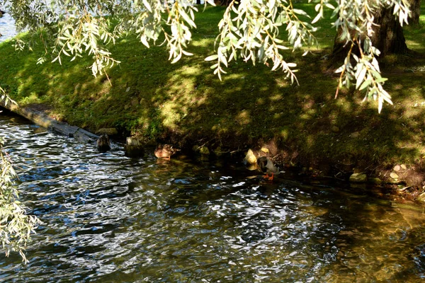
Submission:
M 419 0 L 412 0 L 419 1 Z M 372 36 L 373 46 L 381 52 L 380 59 L 387 54 L 400 54 L 407 52 L 406 40 L 402 26 L 398 18 L 392 14 L 392 9 L 380 9 L 375 15 L 375 23 L 377 26 L 373 28 L 375 33 Z M 345 42 L 340 40 L 341 30 L 338 31 L 334 41 L 334 50 L 332 50 L 332 61 L 338 62 L 346 57 L 351 45 L 345 45 Z M 345 45 L 345 46 L 344 46 Z M 353 50 L 353 53 L 359 54 L 358 47 Z

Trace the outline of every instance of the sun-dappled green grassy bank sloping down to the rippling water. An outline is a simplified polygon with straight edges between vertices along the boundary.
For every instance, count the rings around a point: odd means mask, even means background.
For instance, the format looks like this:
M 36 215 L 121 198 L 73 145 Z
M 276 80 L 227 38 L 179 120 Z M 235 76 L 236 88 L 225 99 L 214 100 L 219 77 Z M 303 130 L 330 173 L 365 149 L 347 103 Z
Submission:
M 48 105 L 51 115 L 93 132 L 116 127 L 123 135 L 168 139 L 188 148 L 247 149 L 265 143 L 273 145 L 280 161 L 323 174 L 378 174 L 400 163 L 423 171 L 425 73 L 406 70 L 425 65 L 424 16 L 421 26 L 405 29 L 416 53 L 384 62 L 394 105 L 378 114 L 375 102 L 361 103 L 361 93 L 343 91 L 334 99 L 337 81 L 326 60 L 335 35 L 330 26 L 319 30 L 312 54 L 288 54 L 288 61 L 299 65 L 300 86 L 279 71 L 244 62 L 232 63 L 220 81 L 204 58 L 213 52 L 222 11 L 198 13 L 190 48 L 195 55 L 176 64 L 167 61 L 164 47 L 146 49 L 131 36 L 120 40 L 111 47 L 122 62 L 108 71 L 111 84 L 106 76 L 91 76 L 88 59 L 37 65 L 41 47 L 17 53 L 12 42 L 4 42 L 0 83 L 21 105 Z

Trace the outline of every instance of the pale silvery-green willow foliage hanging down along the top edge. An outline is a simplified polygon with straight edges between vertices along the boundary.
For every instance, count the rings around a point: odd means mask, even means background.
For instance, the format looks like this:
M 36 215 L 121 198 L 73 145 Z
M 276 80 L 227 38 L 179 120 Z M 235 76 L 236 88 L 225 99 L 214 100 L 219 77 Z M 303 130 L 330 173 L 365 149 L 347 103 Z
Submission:
M 399 23 L 407 23 L 408 0 L 308 1 L 316 3 L 316 15 L 294 8 L 292 0 L 231 1 L 218 24 L 215 54 L 206 58 L 214 61 L 211 66 L 214 74 L 221 79 L 229 62 L 242 59 L 252 64 L 266 64 L 272 70 L 280 69 L 292 82 L 297 81 L 296 64 L 287 62 L 283 50 L 317 45 L 315 25 L 324 18 L 324 11 L 330 9 L 334 28 L 341 30 L 339 40 L 361 50 L 358 58 L 348 52 L 346 62 L 338 69 L 339 88 L 355 84 L 365 91 L 367 98 L 378 99 L 379 111 L 384 101 L 391 103 L 375 60 L 380 51 L 370 38 L 374 33 L 375 15 L 382 8 L 392 8 Z M 146 47 L 164 38 L 162 44 L 168 47 L 172 63 L 183 55 L 192 55 L 187 49 L 192 39 L 191 30 L 196 28 L 196 0 L 51 0 L 48 3 L 0 0 L 15 18 L 18 29 L 30 32 L 42 29 L 41 40 L 52 61 L 61 62 L 63 56 L 74 60 L 87 54 L 93 57 L 94 76 L 103 74 L 119 63 L 108 45 L 129 33 L 136 34 Z M 206 3 L 214 5 L 213 0 Z M 25 46 L 25 42 L 16 41 L 16 48 Z M 356 61 L 353 66 L 352 59 Z M 47 59 L 38 60 L 39 63 L 45 61 Z

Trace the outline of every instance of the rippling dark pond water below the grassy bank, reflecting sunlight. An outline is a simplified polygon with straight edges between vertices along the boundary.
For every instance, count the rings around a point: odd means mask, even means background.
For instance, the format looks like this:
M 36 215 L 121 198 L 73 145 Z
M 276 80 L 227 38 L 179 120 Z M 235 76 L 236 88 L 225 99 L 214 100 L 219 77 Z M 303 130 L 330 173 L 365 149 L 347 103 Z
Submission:
M 1 115 L 1 114 L 0 114 Z M 1 116 L 0 116 L 1 117 Z M 211 163 L 130 159 L 0 118 L 42 220 L 1 282 L 421 282 L 424 215 Z

